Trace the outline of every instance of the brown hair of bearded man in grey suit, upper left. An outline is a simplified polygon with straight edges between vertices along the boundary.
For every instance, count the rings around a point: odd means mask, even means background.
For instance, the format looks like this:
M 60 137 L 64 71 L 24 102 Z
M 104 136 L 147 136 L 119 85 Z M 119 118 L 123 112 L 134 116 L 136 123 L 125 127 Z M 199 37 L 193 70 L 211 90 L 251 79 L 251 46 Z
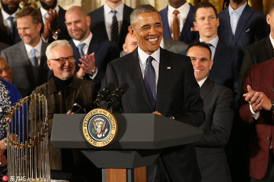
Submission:
M 33 24 L 37 25 L 38 23 L 42 23 L 40 13 L 38 12 L 37 9 L 34 9 L 31 6 L 27 6 L 23 9 L 20 9 L 20 11 L 16 13 L 15 18 L 18 19 L 18 18 L 22 18 L 22 17 L 28 16 L 28 15 L 31 16 Z

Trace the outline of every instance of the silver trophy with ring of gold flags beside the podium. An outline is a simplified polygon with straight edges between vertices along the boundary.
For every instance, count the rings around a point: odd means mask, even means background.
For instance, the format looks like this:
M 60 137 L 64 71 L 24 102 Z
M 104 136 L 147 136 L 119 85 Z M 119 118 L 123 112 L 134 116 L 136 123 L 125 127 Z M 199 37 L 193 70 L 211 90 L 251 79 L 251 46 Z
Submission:
M 38 93 L 18 101 L 5 116 L 9 181 L 50 182 L 47 99 Z

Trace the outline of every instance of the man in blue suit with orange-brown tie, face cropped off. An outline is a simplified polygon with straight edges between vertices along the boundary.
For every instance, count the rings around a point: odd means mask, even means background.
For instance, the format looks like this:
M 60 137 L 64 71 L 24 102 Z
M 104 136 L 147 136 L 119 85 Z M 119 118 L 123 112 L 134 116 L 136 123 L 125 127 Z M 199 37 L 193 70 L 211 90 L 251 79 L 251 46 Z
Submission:
M 167 7 L 159 12 L 163 21 L 163 36 L 180 40 L 186 44 L 199 39 L 198 32 L 191 31 L 194 30 L 192 29 L 194 27 L 192 16 L 194 9 L 195 7 L 186 0 L 169 0 Z M 174 12 L 177 14 L 175 15 Z M 177 35 L 174 35 L 174 31 Z

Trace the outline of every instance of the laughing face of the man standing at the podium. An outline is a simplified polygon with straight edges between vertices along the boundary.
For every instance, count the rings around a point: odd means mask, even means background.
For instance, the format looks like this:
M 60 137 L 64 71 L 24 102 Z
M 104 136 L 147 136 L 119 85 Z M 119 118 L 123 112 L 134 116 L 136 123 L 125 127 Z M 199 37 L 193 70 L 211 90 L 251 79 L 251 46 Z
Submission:
M 157 12 L 141 13 L 138 21 L 128 27 L 132 37 L 137 38 L 140 49 L 149 55 L 159 49 L 163 37 L 163 23 Z

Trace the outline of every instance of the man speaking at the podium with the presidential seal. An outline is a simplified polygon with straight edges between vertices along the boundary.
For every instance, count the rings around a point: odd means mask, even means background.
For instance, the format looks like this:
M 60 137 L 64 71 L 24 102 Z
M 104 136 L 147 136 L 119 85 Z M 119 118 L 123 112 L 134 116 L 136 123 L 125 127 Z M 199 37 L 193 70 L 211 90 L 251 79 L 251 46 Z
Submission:
M 199 127 L 205 120 L 199 85 L 189 57 L 160 47 L 163 27 L 159 12 L 140 5 L 130 15 L 128 31 L 139 46 L 108 63 L 105 84 L 128 83 L 129 89 L 115 103 L 114 111 L 155 113 Z M 167 127 L 169 126 L 167 123 Z M 176 128 L 174 128 L 174 132 Z M 193 144 L 166 148 L 156 161 L 154 181 L 201 180 Z

